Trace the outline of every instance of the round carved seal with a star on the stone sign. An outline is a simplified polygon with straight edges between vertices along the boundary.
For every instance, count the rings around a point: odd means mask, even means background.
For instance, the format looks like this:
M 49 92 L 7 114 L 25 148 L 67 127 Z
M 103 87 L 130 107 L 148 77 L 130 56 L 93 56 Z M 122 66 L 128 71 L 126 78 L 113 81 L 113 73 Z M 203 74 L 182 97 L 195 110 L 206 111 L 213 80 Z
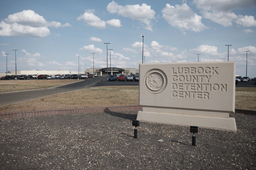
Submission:
M 167 85 L 166 74 L 159 69 L 149 70 L 144 77 L 144 86 L 151 93 L 162 92 Z

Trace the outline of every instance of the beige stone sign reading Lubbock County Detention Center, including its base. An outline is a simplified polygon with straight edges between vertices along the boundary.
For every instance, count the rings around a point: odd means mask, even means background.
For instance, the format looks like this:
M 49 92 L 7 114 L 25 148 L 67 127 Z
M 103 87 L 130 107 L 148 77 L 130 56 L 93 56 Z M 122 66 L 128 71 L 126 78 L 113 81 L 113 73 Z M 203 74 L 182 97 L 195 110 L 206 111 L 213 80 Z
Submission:
M 140 64 L 137 120 L 236 131 L 235 62 Z

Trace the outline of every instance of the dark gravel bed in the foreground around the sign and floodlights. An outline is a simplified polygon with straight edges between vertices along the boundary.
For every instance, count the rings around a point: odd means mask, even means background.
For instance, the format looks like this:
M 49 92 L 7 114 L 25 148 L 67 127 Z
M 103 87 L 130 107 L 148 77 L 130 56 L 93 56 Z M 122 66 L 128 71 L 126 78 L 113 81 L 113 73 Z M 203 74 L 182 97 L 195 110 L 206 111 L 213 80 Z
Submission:
M 138 111 L 0 121 L 0 169 L 256 169 L 256 116 L 230 114 L 237 132 L 140 122 Z M 162 139 L 163 142 L 157 142 Z

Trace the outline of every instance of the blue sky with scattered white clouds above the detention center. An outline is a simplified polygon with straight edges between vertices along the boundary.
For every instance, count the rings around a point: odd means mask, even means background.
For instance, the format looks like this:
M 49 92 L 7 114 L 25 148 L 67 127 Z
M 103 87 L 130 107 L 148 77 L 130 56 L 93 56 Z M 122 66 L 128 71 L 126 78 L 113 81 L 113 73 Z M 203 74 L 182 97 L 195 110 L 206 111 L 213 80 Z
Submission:
M 78 70 L 142 63 L 236 61 L 256 77 L 256 1 L 2 1 L 0 72 Z M 110 50 L 108 50 L 110 52 Z M 110 66 L 110 53 L 108 53 Z

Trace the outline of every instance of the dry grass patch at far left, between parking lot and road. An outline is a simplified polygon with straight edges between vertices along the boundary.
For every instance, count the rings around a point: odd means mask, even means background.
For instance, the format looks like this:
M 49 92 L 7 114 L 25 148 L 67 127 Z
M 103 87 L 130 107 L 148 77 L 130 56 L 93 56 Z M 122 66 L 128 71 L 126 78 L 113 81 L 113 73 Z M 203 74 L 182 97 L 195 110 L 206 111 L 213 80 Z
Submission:
M 62 84 L 72 83 L 77 80 L 66 79 L 66 80 L 1 80 L 0 81 L 0 92 L 10 92 L 18 90 L 28 89 L 43 89 L 54 87 Z

